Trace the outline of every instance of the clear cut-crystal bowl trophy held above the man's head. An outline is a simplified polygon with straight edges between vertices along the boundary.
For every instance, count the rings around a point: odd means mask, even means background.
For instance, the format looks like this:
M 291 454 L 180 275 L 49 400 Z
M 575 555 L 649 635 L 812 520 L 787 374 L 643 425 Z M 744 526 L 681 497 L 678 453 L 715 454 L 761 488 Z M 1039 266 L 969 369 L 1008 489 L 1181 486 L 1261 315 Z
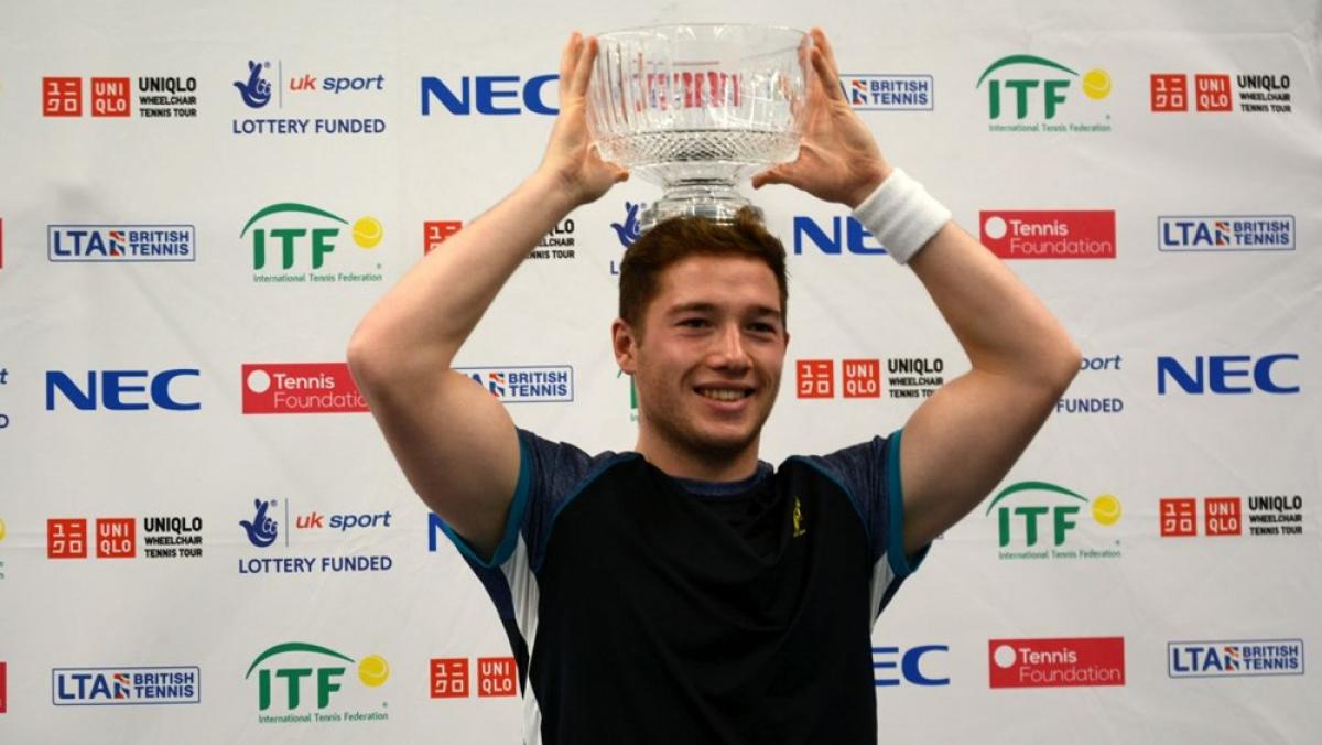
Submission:
M 752 206 L 735 184 L 797 156 L 812 79 L 804 32 L 690 24 L 598 44 L 588 123 L 602 157 L 665 189 L 642 230 L 680 214 L 732 221 Z

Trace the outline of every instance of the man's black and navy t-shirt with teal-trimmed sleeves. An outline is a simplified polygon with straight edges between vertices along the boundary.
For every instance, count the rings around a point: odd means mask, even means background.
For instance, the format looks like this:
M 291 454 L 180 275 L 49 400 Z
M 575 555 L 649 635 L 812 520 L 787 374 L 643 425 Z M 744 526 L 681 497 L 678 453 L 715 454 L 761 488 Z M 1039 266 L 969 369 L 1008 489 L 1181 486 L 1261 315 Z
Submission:
M 900 433 L 740 482 L 520 430 L 504 537 L 447 527 L 518 662 L 525 742 L 876 741 L 871 627 L 903 552 Z

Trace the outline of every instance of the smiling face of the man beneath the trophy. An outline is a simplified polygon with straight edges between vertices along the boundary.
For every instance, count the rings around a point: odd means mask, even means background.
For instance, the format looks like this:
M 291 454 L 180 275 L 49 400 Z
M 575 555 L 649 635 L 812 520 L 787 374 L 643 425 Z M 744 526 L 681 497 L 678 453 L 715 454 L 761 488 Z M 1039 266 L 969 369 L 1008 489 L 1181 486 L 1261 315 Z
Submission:
M 788 341 L 780 290 L 761 261 L 672 265 L 642 328 L 615 327 L 616 360 L 639 392 L 640 442 L 689 462 L 756 458 Z

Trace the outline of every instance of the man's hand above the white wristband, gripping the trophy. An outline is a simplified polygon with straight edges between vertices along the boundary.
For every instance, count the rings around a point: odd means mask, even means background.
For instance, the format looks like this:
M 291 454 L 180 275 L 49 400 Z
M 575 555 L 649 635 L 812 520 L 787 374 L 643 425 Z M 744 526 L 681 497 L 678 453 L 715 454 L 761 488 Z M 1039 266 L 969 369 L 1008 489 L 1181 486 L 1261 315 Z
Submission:
M 758 173 L 752 185 L 789 184 L 820 200 L 855 208 L 891 175 L 891 165 L 845 99 L 826 34 L 820 28 L 809 34 L 813 45 L 801 53 L 808 54 L 813 78 L 808 81 L 798 159 Z

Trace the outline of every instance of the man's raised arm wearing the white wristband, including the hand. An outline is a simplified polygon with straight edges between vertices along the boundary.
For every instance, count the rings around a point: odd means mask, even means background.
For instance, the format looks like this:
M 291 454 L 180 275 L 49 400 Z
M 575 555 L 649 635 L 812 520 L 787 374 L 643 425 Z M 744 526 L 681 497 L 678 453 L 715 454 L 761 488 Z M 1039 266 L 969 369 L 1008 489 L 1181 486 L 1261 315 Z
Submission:
M 908 266 L 964 347 L 973 369 L 941 386 L 900 438 L 904 550 L 912 554 L 976 507 L 1014 466 L 1079 372 L 1079 349 L 1050 311 L 992 251 L 949 222 L 916 183 L 890 167 L 845 101 L 830 44 L 813 29 L 818 86 L 798 160 L 754 177 L 869 212 L 902 243 Z M 878 187 L 890 181 L 888 189 Z M 869 197 L 873 196 L 870 200 Z M 878 197 L 882 201 L 875 201 Z M 880 214 L 878 214 L 880 213 Z M 867 224 L 869 220 L 865 220 Z M 928 238 L 919 243 L 915 236 Z M 917 251 L 914 254 L 912 251 Z M 899 257 L 898 257 L 899 258 Z M 908 258 L 908 257 L 904 257 Z

